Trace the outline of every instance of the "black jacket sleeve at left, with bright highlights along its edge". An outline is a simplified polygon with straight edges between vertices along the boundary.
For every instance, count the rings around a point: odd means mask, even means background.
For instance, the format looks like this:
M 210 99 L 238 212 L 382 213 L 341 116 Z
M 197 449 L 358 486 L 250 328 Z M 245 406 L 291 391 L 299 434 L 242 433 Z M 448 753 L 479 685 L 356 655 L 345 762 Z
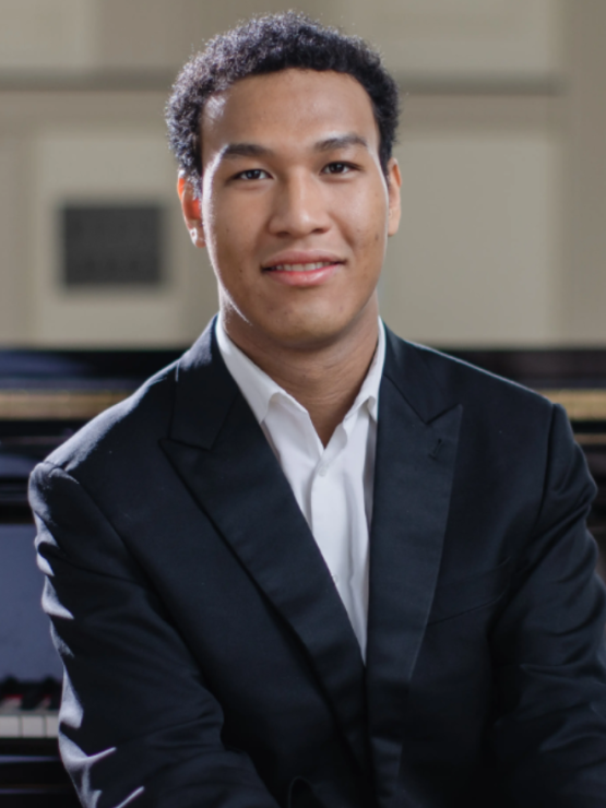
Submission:
M 221 705 L 92 497 L 49 463 L 29 497 L 64 665 L 61 756 L 82 805 L 276 808 L 250 759 L 222 744 Z

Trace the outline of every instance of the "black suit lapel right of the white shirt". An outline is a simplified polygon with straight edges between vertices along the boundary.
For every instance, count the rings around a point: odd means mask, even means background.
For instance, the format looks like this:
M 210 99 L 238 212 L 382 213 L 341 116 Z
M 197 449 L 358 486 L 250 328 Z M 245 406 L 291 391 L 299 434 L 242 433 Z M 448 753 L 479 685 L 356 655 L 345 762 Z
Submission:
M 393 794 L 405 698 L 441 559 L 461 407 L 388 332 L 370 536 L 368 722 L 377 796 Z

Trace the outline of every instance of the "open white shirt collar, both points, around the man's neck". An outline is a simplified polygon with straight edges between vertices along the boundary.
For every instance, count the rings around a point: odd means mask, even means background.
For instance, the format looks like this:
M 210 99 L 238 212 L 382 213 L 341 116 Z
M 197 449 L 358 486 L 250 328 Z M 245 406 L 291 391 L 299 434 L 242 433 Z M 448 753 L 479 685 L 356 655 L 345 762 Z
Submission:
M 223 324 L 223 317 L 219 312 L 215 323 L 215 334 L 218 349 L 227 370 L 230 372 L 236 384 L 240 388 L 242 395 L 248 401 L 254 417 L 259 424 L 262 424 L 270 408 L 271 401 L 274 396 L 280 396 L 289 402 L 292 406 L 304 413 L 307 413 L 304 406 L 299 404 L 289 393 L 280 387 L 268 373 L 256 365 L 240 348 L 229 338 Z M 363 382 L 363 385 L 352 405 L 349 412 L 344 418 L 347 421 L 364 404 L 367 405 L 368 412 L 373 420 L 378 418 L 379 412 L 379 385 L 383 373 L 385 360 L 385 331 L 381 319 L 379 318 L 379 338 L 377 349 L 370 363 L 370 367 Z

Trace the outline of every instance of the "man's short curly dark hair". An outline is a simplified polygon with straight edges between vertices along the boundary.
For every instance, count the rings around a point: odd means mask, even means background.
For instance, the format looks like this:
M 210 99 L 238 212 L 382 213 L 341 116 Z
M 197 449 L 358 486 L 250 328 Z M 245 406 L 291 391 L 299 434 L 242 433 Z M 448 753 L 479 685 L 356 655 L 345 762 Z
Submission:
M 357 36 L 288 11 L 252 17 L 215 36 L 179 73 L 165 110 L 168 141 L 179 168 L 197 190 L 202 174 L 200 118 L 209 97 L 249 75 L 288 68 L 348 73 L 363 85 L 372 103 L 380 134 L 379 159 L 387 175 L 400 100 L 397 85 L 381 57 Z

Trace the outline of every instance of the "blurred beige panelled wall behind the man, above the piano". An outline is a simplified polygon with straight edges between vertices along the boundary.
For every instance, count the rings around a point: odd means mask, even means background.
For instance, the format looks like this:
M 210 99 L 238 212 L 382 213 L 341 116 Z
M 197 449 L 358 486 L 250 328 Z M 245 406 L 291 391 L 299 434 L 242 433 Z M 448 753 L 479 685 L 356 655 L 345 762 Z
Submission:
M 204 39 L 287 8 L 370 39 L 402 88 L 388 323 L 445 347 L 606 345 L 604 0 L 0 0 L 0 345 L 203 329 L 215 283 L 181 224 L 163 107 Z M 116 210 L 156 222 L 155 270 L 70 275 L 66 234 L 94 269 Z

